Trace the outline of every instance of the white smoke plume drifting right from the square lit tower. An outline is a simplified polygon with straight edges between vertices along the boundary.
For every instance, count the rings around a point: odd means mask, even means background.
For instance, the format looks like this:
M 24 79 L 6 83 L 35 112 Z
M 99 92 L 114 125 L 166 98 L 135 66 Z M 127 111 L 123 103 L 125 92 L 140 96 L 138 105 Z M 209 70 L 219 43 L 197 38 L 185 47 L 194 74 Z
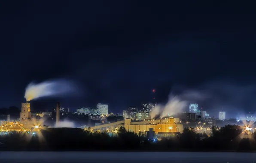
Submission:
M 25 91 L 27 101 L 38 99 L 40 97 L 63 96 L 67 94 L 78 93 L 73 82 L 67 80 L 52 80 L 41 83 L 30 83 Z

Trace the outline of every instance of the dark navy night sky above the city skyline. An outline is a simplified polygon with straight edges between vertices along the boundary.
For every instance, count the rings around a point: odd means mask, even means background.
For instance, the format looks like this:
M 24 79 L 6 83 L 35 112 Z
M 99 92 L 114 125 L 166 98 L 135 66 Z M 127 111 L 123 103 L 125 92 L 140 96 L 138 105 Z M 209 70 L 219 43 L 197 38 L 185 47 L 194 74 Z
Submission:
M 121 112 L 155 89 L 160 103 L 171 92 L 203 90 L 209 98 L 194 101 L 209 112 L 254 112 L 253 12 L 241 2 L 2 1 L 0 107 L 20 107 L 32 81 L 68 78 L 82 95 L 38 99 L 34 109 L 58 100 Z

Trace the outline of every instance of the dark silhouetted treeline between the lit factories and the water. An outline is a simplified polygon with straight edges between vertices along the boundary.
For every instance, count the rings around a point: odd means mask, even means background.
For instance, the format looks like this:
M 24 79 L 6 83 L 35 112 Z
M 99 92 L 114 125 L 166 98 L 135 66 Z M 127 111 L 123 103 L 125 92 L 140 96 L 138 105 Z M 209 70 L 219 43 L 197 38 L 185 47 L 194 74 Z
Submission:
M 237 125 L 213 127 L 209 137 L 189 128 L 174 138 L 153 141 L 144 133 L 133 133 L 119 128 L 116 133 L 85 131 L 79 128 L 49 128 L 40 133 L 8 133 L 0 136 L 1 150 L 9 151 L 94 151 L 94 150 L 138 150 L 138 151 L 254 151 L 256 134 L 250 138 Z

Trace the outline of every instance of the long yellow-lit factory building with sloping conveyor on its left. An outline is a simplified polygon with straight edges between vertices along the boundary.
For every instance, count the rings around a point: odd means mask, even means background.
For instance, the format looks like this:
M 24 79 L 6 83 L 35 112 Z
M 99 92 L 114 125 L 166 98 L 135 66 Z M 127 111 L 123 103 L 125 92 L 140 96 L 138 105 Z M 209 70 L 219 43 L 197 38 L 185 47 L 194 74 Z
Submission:
M 133 131 L 134 133 L 148 132 L 152 130 L 156 135 L 163 137 L 176 136 L 183 132 L 183 125 L 177 124 L 179 118 L 165 118 L 159 120 L 145 120 L 132 122 L 130 118 L 124 121 L 118 121 L 110 124 L 103 124 L 99 126 L 91 127 L 90 130 L 113 130 L 116 127 L 125 127 L 128 131 Z

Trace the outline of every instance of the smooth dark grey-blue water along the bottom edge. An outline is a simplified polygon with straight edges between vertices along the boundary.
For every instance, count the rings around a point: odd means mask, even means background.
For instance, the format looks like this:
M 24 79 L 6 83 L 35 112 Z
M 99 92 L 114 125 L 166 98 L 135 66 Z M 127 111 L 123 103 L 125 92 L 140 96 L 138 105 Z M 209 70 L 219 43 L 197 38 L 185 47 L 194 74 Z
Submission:
M 2 163 L 256 163 L 255 153 L 232 152 L 0 152 Z

